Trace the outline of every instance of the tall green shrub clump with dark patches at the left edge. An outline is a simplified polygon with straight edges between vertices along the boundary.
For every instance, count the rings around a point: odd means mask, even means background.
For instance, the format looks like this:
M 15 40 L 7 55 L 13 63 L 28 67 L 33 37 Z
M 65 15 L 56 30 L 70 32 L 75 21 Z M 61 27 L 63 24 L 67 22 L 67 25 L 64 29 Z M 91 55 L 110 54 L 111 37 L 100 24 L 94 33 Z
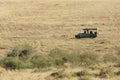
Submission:
M 23 69 L 32 68 L 33 65 L 29 61 L 34 48 L 29 45 L 22 45 L 20 47 L 14 48 L 7 56 L 2 59 L 1 65 L 6 69 Z

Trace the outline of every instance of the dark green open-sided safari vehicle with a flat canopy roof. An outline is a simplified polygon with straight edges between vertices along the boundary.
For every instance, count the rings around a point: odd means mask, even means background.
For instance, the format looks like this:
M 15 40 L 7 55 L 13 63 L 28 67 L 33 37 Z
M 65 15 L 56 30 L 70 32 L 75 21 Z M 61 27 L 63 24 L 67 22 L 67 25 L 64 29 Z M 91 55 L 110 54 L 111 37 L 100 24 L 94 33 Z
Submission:
M 97 37 L 97 28 L 85 28 L 83 29 L 84 33 L 78 33 L 75 35 L 75 38 L 95 38 Z

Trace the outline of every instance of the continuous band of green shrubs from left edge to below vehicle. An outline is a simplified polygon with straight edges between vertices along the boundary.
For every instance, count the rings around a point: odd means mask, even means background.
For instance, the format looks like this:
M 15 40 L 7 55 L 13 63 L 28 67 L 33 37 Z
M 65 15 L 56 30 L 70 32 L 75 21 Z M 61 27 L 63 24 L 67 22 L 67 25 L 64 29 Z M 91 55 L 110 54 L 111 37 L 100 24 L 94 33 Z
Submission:
M 48 55 L 34 55 L 35 49 L 29 45 L 14 48 L 0 63 L 7 69 L 61 67 L 65 63 L 89 66 L 98 62 L 96 54 L 67 54 L 55 48 Z

